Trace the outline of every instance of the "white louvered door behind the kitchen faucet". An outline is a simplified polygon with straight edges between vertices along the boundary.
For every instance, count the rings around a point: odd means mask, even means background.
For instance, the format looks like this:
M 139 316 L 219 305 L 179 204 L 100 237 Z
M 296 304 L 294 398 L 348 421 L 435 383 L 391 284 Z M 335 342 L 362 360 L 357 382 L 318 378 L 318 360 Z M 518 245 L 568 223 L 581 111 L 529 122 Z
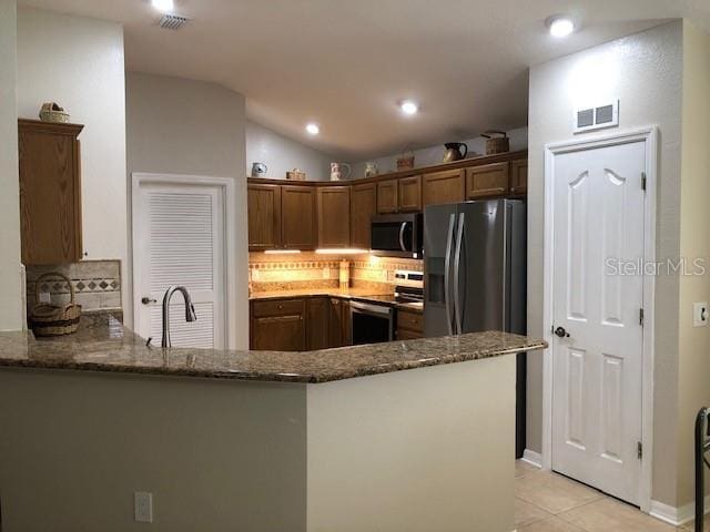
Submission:
M 190 291 L 170 306 L 174 347 L 223 348 L 225 341 L 225 200 L 220 186 L 141 180 L 133 195 L 135 329 L 160 345 L 162 300 L 171 285 Z M 142 303 L 146 298 L 149 303 Z

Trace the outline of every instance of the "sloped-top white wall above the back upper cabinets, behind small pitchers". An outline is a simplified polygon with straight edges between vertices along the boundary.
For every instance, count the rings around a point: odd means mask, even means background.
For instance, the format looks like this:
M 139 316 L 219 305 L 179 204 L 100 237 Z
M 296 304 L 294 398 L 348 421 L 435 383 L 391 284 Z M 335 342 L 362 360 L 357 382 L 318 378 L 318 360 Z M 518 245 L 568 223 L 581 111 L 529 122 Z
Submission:
M 268 166 L 266 177 L 274 180 L 285 180 L 286 172 L 300 168 L 308 181 L 328 181 L 331 161 L 335 158 L 261 124 L 246 122 L 247 176 L 252 173 L 252 163 L 258 162 Z

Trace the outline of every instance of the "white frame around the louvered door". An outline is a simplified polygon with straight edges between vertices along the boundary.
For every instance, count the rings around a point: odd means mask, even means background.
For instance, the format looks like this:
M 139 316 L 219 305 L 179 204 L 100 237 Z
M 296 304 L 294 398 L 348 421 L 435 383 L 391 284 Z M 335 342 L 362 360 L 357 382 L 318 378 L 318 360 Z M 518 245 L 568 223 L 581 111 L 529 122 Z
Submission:
M 236 191 L 234 180 L 232 177 L 213 177 L 203 175 L 184 175 L 184 174 L 153 174 L 134 172 L 131 174 L 131 255 L 132 270 L 131 278 L 133 280 L 133 316 L 138 316 L 141 295 L 139 286 L 135 283 L 136 273 L 140 272 L 140 265 L 135 253 L 133 253 L 134 243 L 138 239 L 138 224 L 135 221 L 135 205 L 139 201 L 139 192 L 141 185 L 148 183 L 156 183 L 163 185 L 182 185 L 182 186 L 214 186 L 222 191 L 222 201 L 224 202 L 224 330 L 225 342 L 227 349 L 234 349 L 236 346 Z

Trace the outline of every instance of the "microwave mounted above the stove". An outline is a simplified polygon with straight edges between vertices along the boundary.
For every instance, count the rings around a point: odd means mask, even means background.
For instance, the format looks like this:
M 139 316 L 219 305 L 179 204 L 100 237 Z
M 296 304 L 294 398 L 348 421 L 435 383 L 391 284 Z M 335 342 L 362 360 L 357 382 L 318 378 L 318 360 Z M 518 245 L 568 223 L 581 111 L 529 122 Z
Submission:
M 422 258 L 423 229 L 422 213 L 374 216 L 372 253 L 382 257 Z

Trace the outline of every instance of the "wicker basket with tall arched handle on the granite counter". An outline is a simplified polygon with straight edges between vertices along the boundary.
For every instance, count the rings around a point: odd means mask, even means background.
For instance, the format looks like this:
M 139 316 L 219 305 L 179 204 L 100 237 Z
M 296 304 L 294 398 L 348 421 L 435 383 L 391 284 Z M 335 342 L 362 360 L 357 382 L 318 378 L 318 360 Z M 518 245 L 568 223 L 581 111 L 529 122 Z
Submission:
M 40 285 L 48 277 L 61 277 L 69 285 L 71 300 L 67 305 L 39 303 Z M 40 275 L 34 287 L 34 306 L 30 310 L 30 327 L 34 336 L 65 336 L 77 332 L 81 318 L 81 305 L 77 305 L 75 299 L 74 286 L 68 277 L 58 272 Z

